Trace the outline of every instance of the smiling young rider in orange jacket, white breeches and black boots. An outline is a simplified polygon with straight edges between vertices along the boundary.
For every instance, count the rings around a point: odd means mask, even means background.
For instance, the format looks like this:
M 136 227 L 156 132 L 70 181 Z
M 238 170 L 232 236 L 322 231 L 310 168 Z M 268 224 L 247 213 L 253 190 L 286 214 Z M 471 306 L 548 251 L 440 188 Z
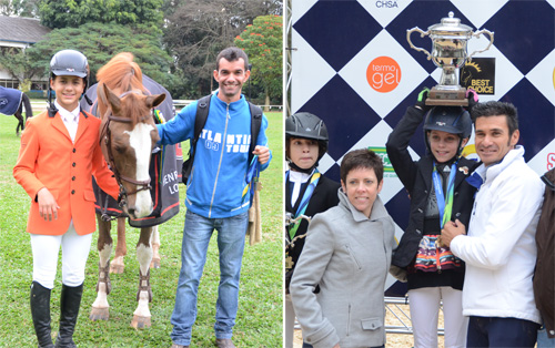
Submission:
M 117 197 L 119 186 L 99 145 L 100 119 L 82 111 L 87 58 L 62 50 L 50 62 L 56 101 L 30 119 L 21 135 L 13 176 L 31 197 L 27 224 L 33 254 L 31 315 L 39 347 L 52 348 L 50 293 L 62 249 L 60 329 L 56 347 L 75 347 L 73 331 L 83 293 L 84 268 L 97 229 L 92 175 Z

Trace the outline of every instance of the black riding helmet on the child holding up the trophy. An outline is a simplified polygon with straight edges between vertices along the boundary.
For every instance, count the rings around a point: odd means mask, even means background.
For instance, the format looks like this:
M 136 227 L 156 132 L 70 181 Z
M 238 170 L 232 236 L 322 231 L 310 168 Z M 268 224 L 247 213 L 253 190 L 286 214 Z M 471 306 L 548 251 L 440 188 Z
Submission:
M 463 149 L 461 149 L 463 140 L 470 137 L 472 134 L 471 114 L 461 106 L 432 108 L 424 121 L 424 141 L 427 151 L 432 152 L 427 140 L 427 133 L 430 131 L 442 131 L 458 135 L 458 151 L 456 154 L 456 157 L 458 157 L 463 151 Z

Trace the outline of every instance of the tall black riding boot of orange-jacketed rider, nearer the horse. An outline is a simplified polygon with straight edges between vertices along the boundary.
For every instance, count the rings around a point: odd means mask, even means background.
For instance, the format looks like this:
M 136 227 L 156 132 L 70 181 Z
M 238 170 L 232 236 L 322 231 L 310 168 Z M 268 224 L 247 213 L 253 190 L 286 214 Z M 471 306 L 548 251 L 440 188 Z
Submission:
M 83 295 L 83 285 L 75 287 L 62 285 L 62 295 L 60 298 L 60 330 L 56 339 L 56 348 L 73 348 L 73 331 L 75 329 L 81 296 Z

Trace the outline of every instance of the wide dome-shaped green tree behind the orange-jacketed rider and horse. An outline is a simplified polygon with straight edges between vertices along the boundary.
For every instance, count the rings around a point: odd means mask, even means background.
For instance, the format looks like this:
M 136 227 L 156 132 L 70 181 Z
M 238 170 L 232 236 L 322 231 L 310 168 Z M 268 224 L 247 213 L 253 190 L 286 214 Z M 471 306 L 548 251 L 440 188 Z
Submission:
M 73 49 L 87 55 L 91 70 L 91 84 L 95 72 L 113 55 L 131 52 L 143 73 L 162 85 L 172 84 L 169 75 L 171 58 L 160 48 L 160 39 L 145 28 L 132 29 L 121 24 L 87 23 L 80 28 L 52 30 L 44 40 L 26 50 L 33 69 L 46 76 L 50 59 L 63 49 Z

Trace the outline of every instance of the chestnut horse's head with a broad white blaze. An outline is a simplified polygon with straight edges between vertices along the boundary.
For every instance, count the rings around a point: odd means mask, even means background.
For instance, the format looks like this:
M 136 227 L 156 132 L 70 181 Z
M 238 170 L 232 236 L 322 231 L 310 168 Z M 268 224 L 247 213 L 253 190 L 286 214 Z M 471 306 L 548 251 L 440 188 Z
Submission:
M 152 213 L 150 157 L 159 140 L 152 109 L 165 94 L 144 95 L 129 91 L 120 96 L 99 84 L 98 94 L 107 106 L 102 116 L 101 146 L 120 184 L 120 205 L 132 218 Z

